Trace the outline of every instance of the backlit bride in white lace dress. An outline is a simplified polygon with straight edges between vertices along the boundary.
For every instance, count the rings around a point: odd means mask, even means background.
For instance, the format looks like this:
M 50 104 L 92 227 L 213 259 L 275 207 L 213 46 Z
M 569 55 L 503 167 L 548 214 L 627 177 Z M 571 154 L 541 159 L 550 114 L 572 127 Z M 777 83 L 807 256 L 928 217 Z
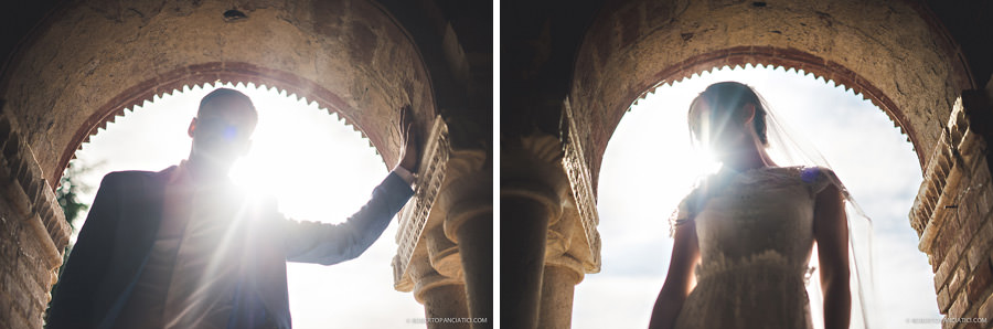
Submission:
M 848 328 L 847 193 L 834 172 L 773 162 L 766 108 L 744 84 L 711 85 L 688 117 L 722 169 L 673 214 L 672 258 L 650 328 L 813 328 L 805 283 L 814 246 L 823 328 Z

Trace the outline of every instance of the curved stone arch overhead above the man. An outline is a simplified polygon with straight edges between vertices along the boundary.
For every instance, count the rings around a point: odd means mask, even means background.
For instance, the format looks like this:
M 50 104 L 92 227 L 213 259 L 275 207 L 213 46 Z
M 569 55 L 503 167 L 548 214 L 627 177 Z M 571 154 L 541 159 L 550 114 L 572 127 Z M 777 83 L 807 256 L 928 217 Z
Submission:
M 413 39 L 377 3 L 226 6 L 75 2 L 32 32 L 6 67 L 0 93 L 51 187 L 98 127 L 184 84 L 286 88 L 340 113 L 387 163 L 399 145 L 397 109 L 412 106 L 427 135 L 437 114 L 428 70 Z

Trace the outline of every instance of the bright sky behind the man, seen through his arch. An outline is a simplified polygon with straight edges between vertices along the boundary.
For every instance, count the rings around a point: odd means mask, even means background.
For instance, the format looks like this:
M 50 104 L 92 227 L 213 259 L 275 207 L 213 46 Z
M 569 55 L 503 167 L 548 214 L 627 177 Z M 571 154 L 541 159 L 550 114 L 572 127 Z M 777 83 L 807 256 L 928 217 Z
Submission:
M 236 164 L 232 178 L 275 195 L 287 217 L 343 222 L 386 177 L 386 164 L 369 140 L 337 115 L 275 89 L 235 88 L 252 97 L 259 124 L 250 153 Z M 107 172 L 158 171 L 185 159 L 191 142 L 186 127 L 200 99 L 213 89 L 186 88 L 178 96 L 156 98 L 94 136 L 74 162 L 103 162 L 83 176 L 94 189 L 82 200 L 93 202 Z M 79 219 L 75 226 L 82 224 Z M 395 328 L 408 327 L 407 319 L 424 318 L 424 307 L 412 294 L 393 289 L 396 229 L 392 223 L 356 259 L 333 266 L 287 263 L 293 327 Z

